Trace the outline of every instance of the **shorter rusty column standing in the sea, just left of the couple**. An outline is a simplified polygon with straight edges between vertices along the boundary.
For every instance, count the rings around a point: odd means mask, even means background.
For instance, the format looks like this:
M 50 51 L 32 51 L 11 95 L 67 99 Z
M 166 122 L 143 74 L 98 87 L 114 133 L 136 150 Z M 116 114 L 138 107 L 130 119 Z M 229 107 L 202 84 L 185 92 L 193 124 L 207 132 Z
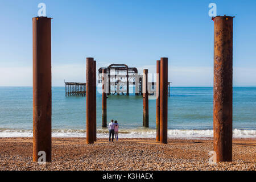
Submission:
M 102 127 L 107 127 L 106 120 L 106 69 L 102 69 Z

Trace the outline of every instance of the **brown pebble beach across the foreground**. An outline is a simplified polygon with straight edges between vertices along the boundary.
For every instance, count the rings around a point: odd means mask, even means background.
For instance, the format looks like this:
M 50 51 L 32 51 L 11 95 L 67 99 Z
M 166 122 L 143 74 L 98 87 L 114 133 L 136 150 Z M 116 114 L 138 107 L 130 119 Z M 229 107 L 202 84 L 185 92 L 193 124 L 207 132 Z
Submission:
M 256 138 L 233 139 L 233 162 L 209 164 L 212 139 L 53 138 L 52 162 L 32 162 L 32 138 L 0 138 L 0 170 L 250 170 L 256 169 Z

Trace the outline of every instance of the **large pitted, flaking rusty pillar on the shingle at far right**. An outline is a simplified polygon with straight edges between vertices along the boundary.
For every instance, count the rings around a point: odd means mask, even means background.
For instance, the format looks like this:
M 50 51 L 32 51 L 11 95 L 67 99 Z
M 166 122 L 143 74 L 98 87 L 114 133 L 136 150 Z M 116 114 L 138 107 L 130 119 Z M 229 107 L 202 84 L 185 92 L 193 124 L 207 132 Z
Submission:
M 232 162 L 233 17 L 214 19 L 213 146 L 216 162 Z

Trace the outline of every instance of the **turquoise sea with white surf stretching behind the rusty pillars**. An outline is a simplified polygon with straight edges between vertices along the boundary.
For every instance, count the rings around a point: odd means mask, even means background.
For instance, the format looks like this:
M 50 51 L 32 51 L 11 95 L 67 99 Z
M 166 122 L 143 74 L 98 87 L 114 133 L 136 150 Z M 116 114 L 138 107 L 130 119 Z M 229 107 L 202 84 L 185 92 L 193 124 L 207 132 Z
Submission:
M 99 89 L 100 91 L 100 89 Z M 97 93 L 97 135 L 101 128 L 101 92 Z M 149 129 L 142 127 L 142 96 L 109 96 L 108 121 L 120 125 L 120 137 L 155 137 L 155 100 L 149 101 Z M 53 137 L 86 136 L 86 97 L 65 97 L 52 88 Z M 171 88 L 169 137 L 213 136 L 213 88 Z M 0 137 L 32 136 L 32 88 L 0 87 Z M 233 136 L 256 137 L 256 88 L 233 89 Z

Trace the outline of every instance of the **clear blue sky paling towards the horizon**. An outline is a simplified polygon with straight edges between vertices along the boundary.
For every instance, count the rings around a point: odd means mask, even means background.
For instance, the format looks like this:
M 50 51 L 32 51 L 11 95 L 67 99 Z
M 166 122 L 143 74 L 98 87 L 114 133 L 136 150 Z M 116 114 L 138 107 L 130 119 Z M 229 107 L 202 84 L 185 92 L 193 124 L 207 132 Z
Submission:
M 172 86 L 213 86 L 213 21 L 236 16 L 233 85 L 256 86 L 255 0 L 0 0 L 0 86 L 32 86 L 32 18 L 52 19 L 52 86 L 85 82 L 86 57 L 156 72 L 168 57 Z

